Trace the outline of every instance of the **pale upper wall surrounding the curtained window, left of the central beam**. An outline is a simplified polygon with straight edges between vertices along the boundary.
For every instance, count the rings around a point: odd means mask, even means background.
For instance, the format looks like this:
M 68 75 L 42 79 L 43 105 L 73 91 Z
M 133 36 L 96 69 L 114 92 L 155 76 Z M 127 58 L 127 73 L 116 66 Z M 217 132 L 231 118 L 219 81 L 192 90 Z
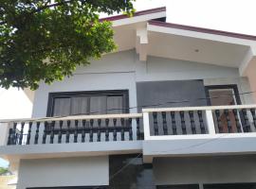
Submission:
M 91 65 L 78 68 L 73 77 L 65 78 L 64 81 L 52 85 L 41 84 L 35 93 L 32 117 L 46 116 L 48 93 L 52 92 L 127 89 L 130 107 L 136 106 L 134 59 L 133 51 L 110 54 L 101 60 L 92 61 Z

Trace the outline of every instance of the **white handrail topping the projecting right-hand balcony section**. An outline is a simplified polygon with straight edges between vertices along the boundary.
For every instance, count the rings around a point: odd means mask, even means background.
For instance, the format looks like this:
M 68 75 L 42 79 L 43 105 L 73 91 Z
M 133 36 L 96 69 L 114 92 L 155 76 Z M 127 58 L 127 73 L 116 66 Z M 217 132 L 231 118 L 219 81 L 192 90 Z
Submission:
M 214 110 L 233 110 L 233 109 L 253 109 L 256 104 L 248 105 L 227 105 L 227 106 L 202 106 L 202 107 L 174 107 L 174 108 L 152 108 L 142 109 L 142 112 L 180 112 L 180 111 L 214 111 Z

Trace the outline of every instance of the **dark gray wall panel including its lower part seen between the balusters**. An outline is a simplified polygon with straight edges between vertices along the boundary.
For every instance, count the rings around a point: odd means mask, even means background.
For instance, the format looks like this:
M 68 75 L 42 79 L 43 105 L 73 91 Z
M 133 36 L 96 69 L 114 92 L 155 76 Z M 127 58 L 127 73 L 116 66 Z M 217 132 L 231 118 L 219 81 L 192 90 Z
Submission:
M 203 80 L 172 80 L 172 81 L 149 81 L 137 82 L 137 105 L 138 112 L 143 108 L 170 108 L 207 106 L 205 86 Z M 166 115 L 168 134 L 172 133 L 171 115 Z M 205 114 L 203 113 L 204 123 Z M 177 133 L 181 134 L 181 121 L 179 113 L 175 113 Z M 191 122 L 188 112 L 185 112 L 187 133 L 192 133 Z M 194 112 L 196 133 L 200 133 L 197 112 Z M 163 134 L 161 113 L 157 114 L 159 135 Z M 151 134 L 153 134 L 153 116 L 150 113 Z M 142 127 L 142 126 L 141 126 Z M 206 129 L 206 131 L 208 131 Z

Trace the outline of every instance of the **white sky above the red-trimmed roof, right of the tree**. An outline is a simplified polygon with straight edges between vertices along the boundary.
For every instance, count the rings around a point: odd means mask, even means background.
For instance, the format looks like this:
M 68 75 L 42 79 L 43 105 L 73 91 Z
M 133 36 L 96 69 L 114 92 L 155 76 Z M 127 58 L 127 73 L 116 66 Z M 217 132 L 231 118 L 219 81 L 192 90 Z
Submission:
M 167 22 L 256 35 L 255 0 L 137 0 L 135 8 L 165 6 Z

